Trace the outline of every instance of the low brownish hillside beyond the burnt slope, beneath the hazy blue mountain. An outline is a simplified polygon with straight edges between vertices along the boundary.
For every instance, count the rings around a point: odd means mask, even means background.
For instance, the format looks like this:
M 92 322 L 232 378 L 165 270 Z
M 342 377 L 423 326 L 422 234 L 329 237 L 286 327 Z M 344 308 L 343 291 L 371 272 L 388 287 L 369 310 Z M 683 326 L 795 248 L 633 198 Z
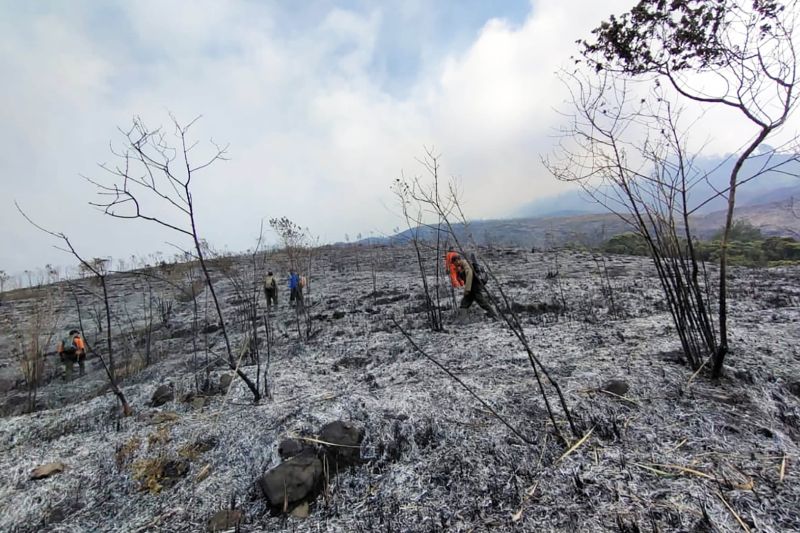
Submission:
M 800 201 L 798 201 L 795 214 L 792 213 L 788 202 L 782 201 L 739 207 L 736 209 L 734 218 L 747 220 L 761 228 L 765 235 L 796 237 L 800 235 Z M 707 239 L 722 228 L 725 211 L 714 211 L 696 216 L 693 217 L 693 221 L 695 234 L 701 239 Z M 596 246 L 614 235 L 631 231 L 631 228 L 616 215 L 604 213 L 478 220 L 469 223 L 466 229 L 463 225 L 458 224 L 454 230 L 459 240 L 474 241 L 479 245 L 550 248 L 570 243 Z M 425 239 L 435 237 L 435 232 L 430 228 L 421 228 L 419 231 L 420 236 Z M 410 239 L 410 236 L 411 231 L 406 230 L 392 239 L 405 241 Z

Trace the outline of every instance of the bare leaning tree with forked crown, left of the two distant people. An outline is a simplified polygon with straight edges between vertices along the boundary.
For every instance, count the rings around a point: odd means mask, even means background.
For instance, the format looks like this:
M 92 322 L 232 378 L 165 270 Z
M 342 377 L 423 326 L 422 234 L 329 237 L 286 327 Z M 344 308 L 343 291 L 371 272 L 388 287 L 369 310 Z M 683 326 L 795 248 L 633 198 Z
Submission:
M 211 141 L 213 148 L 210 153 L 205 157 L 201 156 L 199 163 L 194 163 L 190 155 L 194 155 L 192 152 L 199 144 L 190 141 L 188 133 L 199 117 L 185 125 L 171 115 L 170 118 L 174 126 L 172 135 L 163 128 L 146 126 L 139 117 L 133 119 L 129 129 L 119 130 L 122 136 L 122 148 L 116 149 L 111 146 L 111 153 L 117 158 L 116 164 L 100 165 L 114 181 L 107 184 L 86 178 L 97 187 L 100 197 L 105 199 L 92 205 L 100 207 L 107 215 L 114 218 L 146 220 L 191 239 L 219 318 L 228 365 L 244 381 L 253 394 L 254 401 L 257 402 L 260 398 L 258 387 L 239 368 L 233 355 L 225 317 L 205 255 L 206 246 L 197 229 L 192 197 L 193 179 L 214 163 L 225 161 L 227 146 L 220 146 Z M 151 210 L 147 210 L 145 206 L 150 206 Z M 173 215 L 177 215 L 178 220 L 152 214 L 161 208 L 171 210 Z

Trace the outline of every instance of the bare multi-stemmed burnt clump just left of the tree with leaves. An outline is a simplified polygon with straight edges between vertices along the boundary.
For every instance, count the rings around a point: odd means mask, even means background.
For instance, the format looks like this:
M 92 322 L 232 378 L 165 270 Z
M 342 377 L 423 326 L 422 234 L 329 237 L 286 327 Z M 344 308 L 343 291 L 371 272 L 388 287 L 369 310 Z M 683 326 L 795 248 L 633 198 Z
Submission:
M 557 179 L 579 184 L 644 239 L 683 352 L 700 368 L 717 351 L 689 220 L 689 194 L 706 176 L 687 153 L 680 113 L 660 91 L 651 105 L 607 75 L 572 74 L 565 81 L 574 112 L 545 166 Z

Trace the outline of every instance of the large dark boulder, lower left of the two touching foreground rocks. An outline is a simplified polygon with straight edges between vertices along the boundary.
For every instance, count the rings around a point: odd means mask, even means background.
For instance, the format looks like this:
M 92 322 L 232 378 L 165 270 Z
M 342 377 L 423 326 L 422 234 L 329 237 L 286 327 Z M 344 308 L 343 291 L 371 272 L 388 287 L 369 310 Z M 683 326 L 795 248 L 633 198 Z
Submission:
M 274 510 L 288 511 L 316 496 L 322 486 L 322 461 L 310 451 L 303 453 L 269 470 L 257 483 Z

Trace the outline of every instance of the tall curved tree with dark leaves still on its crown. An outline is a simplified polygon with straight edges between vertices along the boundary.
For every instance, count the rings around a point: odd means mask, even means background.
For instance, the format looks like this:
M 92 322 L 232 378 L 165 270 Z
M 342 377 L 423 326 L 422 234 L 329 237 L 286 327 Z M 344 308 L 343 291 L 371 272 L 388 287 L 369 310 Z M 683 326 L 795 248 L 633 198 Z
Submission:
M 641 0 L 630 12 L 602 22 L 592 40 L 581 43 L 578 63 L 589 71 L 663 87 L 703 109 L 730 111 L 753 128 L 737 149 L 727 188 L 716 195 L 726 197 L 727 214 L 713 376 L 722 373 L 728 353 L 727 264 L 736 191 L 754 177 L 743 172 L 748 160 L 777 151 L 764 143 L 786 124 L 797 103 L 797 18 L 797 0 Z

